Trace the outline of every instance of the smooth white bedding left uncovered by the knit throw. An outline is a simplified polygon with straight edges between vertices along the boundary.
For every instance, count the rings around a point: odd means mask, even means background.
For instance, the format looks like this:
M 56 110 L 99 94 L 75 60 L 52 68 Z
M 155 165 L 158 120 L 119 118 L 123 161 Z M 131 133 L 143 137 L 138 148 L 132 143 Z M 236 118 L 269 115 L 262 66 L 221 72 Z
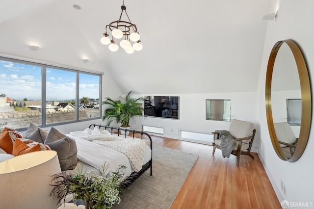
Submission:
M 107 172 L 116 171 L 116 168 L 118 168 L 119 165 L 125 165 L 127 167 L 127 169 L 125 170 L 125 176 L 130 176 L 131 173 L 134 171 L 131 168 L 128 157 L 124 154 L 112 149 L 108 149 L 91 141 L 81 139 L 71 134 L 66 135 L 76 140 L 78 147 L 78 160 L 83 162 L 84 167 L 86 167 L 85 164 L 88 164 L 94 167 L 96 170 L 101 170 L 102 166 L 106 162 L 106 165 L 109 165 Z M 151 159 L 151 154 L 152 152 L 150 147 L 145 145 L 145 155 L 142 163 L 143 165 Z M 79 167 L 79 164 L 77 167 Z

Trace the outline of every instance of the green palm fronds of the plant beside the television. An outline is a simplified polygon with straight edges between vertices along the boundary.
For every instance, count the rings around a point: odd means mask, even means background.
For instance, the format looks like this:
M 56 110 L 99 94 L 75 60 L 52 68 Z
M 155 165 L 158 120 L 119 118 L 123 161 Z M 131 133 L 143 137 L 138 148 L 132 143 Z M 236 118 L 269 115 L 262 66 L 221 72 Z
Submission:
M 121 123 L 121 127 L 129 127 L 129 122 L 132 117 L 143 116 L 144 108 L 139 104 L 141 101 L 144 101 L 143 97 L 134 99 L 131 97 L 132 91 L 130 91 L 126 97 L 120 97 L 119 100 L 113 100 L 109 97 L 105 98 L 103 104 L 106 104 L 107 107 L 104 110 L 103 121 L 107 121 L 107 126 L 113 120 L 116 120 L 117 123 Z

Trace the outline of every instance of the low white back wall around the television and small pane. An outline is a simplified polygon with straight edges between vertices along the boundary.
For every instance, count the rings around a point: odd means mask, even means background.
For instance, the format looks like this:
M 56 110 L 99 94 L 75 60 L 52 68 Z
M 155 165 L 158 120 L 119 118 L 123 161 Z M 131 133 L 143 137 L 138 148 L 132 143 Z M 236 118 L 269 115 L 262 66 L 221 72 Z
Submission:
M 140 96 L 161 96 L 161 95 L 133 95 Z M 164 128 L 165 137 L 180 138 L 180 130 L 211 133 L 215 130 L 228 130 L 230 122 L 206 120 L 206 99 L 230 99 L 231 118 L 245 120 L 254 123 L 258 130 L 253 146 L 257 146 L 260 140 L 259 122 L 257 118 L 257 97 L 256 92 L 243 93 L 210 93 L 210 94 L 176 94 L 162 96 L 180 97 L 180 120 L 165 118 L 135 118 L 131 120 L 132 129 L 141 130 L 142 125 Z M 172 130 L 172 131 L 171 131 Z

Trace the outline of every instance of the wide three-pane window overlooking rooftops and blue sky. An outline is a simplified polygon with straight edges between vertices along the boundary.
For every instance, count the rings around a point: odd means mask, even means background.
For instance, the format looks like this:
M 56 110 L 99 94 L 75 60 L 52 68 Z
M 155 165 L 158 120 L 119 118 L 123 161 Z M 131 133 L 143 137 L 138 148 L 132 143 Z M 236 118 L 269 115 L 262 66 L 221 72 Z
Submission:
M 0 57 L 0 123 L 26 129 L 100 118 L 101 75 Z

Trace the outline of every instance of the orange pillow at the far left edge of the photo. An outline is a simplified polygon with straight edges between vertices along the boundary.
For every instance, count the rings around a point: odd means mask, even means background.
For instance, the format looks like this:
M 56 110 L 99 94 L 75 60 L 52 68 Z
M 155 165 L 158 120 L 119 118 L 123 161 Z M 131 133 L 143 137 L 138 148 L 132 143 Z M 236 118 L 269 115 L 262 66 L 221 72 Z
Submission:
M 23 134 L 7 127 L 0 133 L 0 148 L 8 154 L 12 154 L 13 144 L 16 138 L 23 138 Z

